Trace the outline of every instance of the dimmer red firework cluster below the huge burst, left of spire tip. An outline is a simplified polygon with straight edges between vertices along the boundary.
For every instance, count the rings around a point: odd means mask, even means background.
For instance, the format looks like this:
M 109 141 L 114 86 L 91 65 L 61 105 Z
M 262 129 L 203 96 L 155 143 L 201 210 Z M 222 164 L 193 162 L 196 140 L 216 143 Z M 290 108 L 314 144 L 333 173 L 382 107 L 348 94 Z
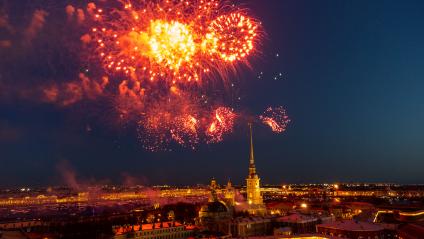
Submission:
M 170 101 L 157 101 L 146 109 L 140 117 L 140 139 L 152 151 L 161 150 L 171 142 L 195 148 L 201 141 L 222 141 L 232 132 L 236 118 L 229 107 L 204 109 L 193 103 L 192 98 L 179 95 Z

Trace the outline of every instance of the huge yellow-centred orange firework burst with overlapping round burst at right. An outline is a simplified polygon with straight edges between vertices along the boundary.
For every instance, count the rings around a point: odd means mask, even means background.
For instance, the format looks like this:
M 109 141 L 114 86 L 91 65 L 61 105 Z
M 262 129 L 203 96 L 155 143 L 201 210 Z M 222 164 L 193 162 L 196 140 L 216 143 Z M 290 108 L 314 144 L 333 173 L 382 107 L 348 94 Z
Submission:
M 104 67 L 137 81 L 200 82 L 244 60 L 259 39 L 253 18 L 218 0 L 139 0 L 94 19 Z

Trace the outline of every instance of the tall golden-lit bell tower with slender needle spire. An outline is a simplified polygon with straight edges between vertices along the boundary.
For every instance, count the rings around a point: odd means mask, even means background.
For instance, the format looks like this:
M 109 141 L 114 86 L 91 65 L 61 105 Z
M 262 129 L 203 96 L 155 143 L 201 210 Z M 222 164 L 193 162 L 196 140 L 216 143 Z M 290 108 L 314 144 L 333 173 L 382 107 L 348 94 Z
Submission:
M 255 215 L 264 215 L 266 212 L 261 195 L 260 178 L 256 174 L 255 155 L 253 153 L 253 134 L 252 124 L 249 123 L 250 129 L 250 156 L 249 156 L 249 175 L 246 178 L 246 192 L 248 212 Z

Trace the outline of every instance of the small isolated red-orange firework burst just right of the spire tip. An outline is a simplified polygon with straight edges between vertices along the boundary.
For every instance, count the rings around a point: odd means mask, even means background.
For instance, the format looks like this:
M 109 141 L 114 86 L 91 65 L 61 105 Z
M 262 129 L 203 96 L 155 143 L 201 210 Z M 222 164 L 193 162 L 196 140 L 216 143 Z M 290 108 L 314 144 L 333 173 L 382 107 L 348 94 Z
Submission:
M 268 107 L 264 114 L 259 116 L 259 119 L 276 133 L 284 132 L 290 122 L 286 110 L 281 106 L 276 108 Z

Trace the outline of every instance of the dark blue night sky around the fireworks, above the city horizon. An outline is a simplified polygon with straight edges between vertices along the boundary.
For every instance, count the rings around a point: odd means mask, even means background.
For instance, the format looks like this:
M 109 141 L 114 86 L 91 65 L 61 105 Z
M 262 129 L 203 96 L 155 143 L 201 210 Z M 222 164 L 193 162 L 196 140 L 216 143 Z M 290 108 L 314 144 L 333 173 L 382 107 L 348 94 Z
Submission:
M 63 184 L 70 172 L 90 183 L 244 184 L 247 127 L 218 144 L 152 153 L 103 104 L 37 99 L 38 87 L 85 67 L 67 50 L 80 44 L 69 40 L 77 26 L 64 27 L 65 6 L 78 2 L 0 1 L 0 187 Z M 254 127 L 263 183 L 424 183 L 423 1 L 244 6 L 266 34 L 251 68 L 232 76 L 242 79 L 234 107 L 283 105 L 292 120 L 283 134 Z M 45 22 L 31 32 L 36 10 Z

